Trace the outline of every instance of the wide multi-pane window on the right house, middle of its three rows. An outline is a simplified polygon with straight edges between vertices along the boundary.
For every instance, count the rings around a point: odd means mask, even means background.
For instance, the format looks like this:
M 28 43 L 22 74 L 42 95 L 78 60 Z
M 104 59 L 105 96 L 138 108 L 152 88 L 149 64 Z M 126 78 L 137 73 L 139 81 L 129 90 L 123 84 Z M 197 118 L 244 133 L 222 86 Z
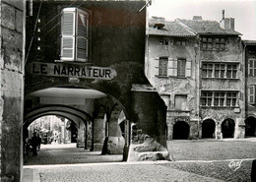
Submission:
M 203 63 L 202 78 L 237 78 L 238 63 Z

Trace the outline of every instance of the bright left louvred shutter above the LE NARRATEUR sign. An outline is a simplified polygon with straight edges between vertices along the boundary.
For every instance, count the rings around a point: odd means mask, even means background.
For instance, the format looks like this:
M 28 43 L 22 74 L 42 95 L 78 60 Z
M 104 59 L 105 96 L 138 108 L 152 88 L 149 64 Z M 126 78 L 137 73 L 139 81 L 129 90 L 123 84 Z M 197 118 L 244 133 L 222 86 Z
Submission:
M 75 8 L 66 8 L 61 17 L 61 60 L 75 59 Z

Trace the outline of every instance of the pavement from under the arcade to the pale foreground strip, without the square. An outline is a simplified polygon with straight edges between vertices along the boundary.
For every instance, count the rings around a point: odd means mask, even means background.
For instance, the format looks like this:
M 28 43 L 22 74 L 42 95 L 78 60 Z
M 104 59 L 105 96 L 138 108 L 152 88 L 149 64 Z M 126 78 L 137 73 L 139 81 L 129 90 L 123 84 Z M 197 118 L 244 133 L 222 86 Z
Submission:
M 75 144 L 46 145 L 37 156 L 29 156 L 25 168 L 38 170 L 41 182 L 221 181 L 160 165 L 167 161 L 127 163 L 121 160 L 120 154 L 100 155 L 100 152 L 77 149 Z

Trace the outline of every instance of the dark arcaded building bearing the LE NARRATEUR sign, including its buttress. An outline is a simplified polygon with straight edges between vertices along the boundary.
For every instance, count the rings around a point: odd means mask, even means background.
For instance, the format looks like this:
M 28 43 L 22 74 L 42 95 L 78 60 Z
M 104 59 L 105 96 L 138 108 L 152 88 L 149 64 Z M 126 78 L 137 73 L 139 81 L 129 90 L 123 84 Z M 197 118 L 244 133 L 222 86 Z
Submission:
M 124 160 L 168 157 L 165 105 L 144 74 L 146 9 L 139 10 L 145 4 L 32 2 L 25 129 L 39 117 L 59 115 L 75 123 L 78 147 L 122 153 Z

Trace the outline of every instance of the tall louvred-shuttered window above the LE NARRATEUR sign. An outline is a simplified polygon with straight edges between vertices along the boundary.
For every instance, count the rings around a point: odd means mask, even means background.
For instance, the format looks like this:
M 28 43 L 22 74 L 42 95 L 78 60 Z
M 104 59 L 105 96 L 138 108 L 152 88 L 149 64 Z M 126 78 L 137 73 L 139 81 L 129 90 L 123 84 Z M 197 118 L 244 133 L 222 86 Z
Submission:
M 88 61 L 89 14 L 65 8 L 61 17 L 61 61 Z

